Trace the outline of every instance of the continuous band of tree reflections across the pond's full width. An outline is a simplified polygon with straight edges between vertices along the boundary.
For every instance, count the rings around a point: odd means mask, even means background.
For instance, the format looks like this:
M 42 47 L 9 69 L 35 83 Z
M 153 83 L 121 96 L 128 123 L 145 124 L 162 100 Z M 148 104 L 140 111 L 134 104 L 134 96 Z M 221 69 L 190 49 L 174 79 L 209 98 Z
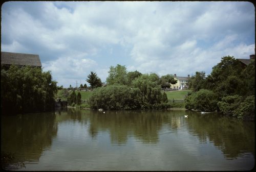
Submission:
M 184 115 L 188 115 L 188 118 Z M 102 113 L 97 110 L 67 109 L 2 116 L 1 149 L 14 154 L 16 160 L 13 163 L 38 161 L 43 151 L 51 147 L 59 125 L 68 126 L 65 128 L 67 131 L 71 130 L 70 127 L 81 126 L 88 132 L 84 135 L 89 134 L 92 140 L 109 135 L 106 137 L 110 138 L 112 145 L 126 145 L 130 138 L 144 145 L 158 145 L 162 143 L 161 139 L 170 136 L 169 133 L 179 135 L 183 132 L 195 136 L 200 144 L 214 144 L 226 159 L 236 159 L 243 153 L 254 156 L 254 122 L 243 122 L 217 113 L 200 114 L 185 110 Z M 83 137 L 76 134 L 78 138 Z

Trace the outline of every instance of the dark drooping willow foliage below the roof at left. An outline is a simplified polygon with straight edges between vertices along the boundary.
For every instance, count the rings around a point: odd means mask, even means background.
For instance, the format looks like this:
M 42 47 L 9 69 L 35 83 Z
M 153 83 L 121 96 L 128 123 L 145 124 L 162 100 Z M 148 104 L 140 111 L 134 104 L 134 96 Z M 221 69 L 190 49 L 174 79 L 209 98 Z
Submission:
M 54 110 L 55 81 L 50 71 L 37 67 L 1 66 L 2 114 L 19 114 Z

